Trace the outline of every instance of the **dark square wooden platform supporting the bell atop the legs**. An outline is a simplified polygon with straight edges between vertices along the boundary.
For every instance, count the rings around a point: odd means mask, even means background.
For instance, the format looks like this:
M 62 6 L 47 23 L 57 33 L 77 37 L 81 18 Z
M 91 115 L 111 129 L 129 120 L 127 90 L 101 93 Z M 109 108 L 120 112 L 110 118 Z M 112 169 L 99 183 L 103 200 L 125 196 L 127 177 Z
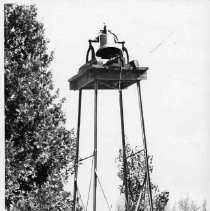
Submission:
M 131 65 L 125 67 L 105 67 L 103 65 L 91 64 L 84 66 L 81 71 L 70 78 L 70 90 L 94 89 L 94 81 L 98 81 L 98 89 L 121 89 L 147 78 L 148 67 L 133 68 Z

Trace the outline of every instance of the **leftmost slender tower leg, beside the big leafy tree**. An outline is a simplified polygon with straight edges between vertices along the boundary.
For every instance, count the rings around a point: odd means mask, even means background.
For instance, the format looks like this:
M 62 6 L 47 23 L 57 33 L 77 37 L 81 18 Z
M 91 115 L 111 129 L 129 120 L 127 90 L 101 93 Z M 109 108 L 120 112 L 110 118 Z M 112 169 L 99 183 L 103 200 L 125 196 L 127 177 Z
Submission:
M 79 90 L 79 102 L 78 102 L 78 120 L 77 120 L 77 143 L 76 143 L 76 155 L 75 155 L 75 174 L 74 174 L 74 195 L 73 195 L 73 211 L 76 210 L 76 198 L 77 198 L 77 175 L 78 175 L 78 159 L 79 159 L 79 135 L 80 135 L 80 119 L 81 119 L 81 103 L 82 103 L 82 90 Z

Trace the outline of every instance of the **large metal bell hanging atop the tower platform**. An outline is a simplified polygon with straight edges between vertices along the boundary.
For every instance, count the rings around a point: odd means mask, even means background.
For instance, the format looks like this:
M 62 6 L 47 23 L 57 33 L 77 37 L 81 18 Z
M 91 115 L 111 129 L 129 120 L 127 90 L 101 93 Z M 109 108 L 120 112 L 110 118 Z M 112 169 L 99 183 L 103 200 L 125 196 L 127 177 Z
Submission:
M 122 55 L 122 50 L 118 48 L 111 33 L 102 33 L 99 35 L 100 48 L 96 52 L 96 56 L 102 59 L 111 59 Z

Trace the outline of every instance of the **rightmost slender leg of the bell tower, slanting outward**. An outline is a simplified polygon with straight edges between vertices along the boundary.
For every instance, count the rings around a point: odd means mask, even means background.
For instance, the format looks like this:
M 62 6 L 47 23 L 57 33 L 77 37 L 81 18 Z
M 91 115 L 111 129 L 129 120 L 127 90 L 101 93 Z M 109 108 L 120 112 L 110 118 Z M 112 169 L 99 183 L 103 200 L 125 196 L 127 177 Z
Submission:
M 145 125 L 144 125 L 144 115 L 143 115 L 143 106 L 142 106 L 142 98 L 141 98 L 141 87 L 140 81 L 137 82 L 138 89 L 138 98 L 139 98 L 139 110 L 140 110 L 140 120 L 141 127 L 143 133 L 143 144 L 144 144 L 144 153 L 145 153 L 145 167 L 147 173 L 147 185 L 149 189 L 149 202 L 150 202 L 150 210 L 153 211 L 153 202 L 152 202 L 152 187 L 150 182 L 150 174 L 149 174 L 149 163 L 148 163 L 148 154 L 147 154 L 147 142 L 146 142 L 146 134 L 145 134 Z

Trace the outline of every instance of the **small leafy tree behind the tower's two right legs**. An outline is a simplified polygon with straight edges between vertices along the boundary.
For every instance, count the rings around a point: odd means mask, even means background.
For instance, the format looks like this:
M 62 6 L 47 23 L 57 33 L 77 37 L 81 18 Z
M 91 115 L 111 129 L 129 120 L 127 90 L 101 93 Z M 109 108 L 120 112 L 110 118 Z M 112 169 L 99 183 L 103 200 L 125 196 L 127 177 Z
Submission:
M 127 183 L 128 183 L 128 200 L 130 210 L 134 211 L 140 196 L 140 204 L 138 211 L 150 210 L 149 209 L 149 198 L 148 188 L 145 186 L 146 183 L 146 168 L 145 168 L 145 155 L 143 151 L 139 151 L 137 147 L 132 148 L 130 144 L 126 145 L 126 157 L 127 157 Z M 149 171 L 152 173 L 153 157 L 148 158 Z M 119 150 L 118 161 L 118 176 L 123 181 L 123 152 Z M 119 187 L 121 193 L 125 193 L 124 185 Z M 153 205 L 156 211 L 163 211 L 169 200 L 169 192 L 161 192 L 157 185 L 152 183 L 153 192 Z M 122 209 L 123 210 L 123 209 Z

